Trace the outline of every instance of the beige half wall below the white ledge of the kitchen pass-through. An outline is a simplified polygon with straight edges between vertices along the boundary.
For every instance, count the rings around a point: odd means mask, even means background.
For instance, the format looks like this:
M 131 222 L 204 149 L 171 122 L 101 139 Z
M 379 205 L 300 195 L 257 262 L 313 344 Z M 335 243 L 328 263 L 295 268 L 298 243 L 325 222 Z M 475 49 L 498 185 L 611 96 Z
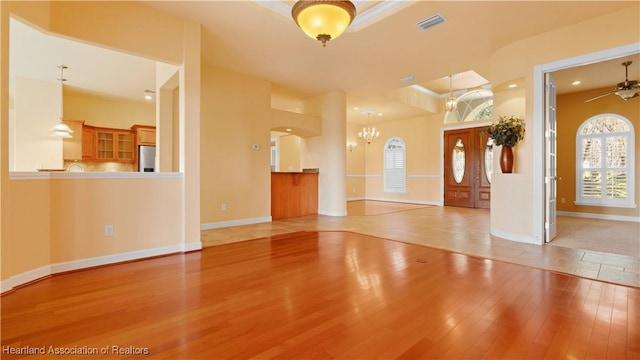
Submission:
M 7 247 L 2 281 L 51 265 L 164 247 L 176 252 L 183 246 L 178 175 L 160 179 L 12 176 L 7 202 L 10 241 L 3 238 Z M 104 235 L 106 225 L 113 226 L 113 236 Z

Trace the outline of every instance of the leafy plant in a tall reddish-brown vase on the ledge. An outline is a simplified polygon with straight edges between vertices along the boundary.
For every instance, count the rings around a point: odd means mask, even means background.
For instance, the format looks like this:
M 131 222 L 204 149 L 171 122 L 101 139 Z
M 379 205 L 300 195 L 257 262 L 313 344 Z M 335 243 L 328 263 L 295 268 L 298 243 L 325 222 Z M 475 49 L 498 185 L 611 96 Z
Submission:
M 493 144 L 502 146 L 500 169 L 505 174 L 513 171 L 512 147 L 516 146 L 518 141 L 524 139 L 524 126 L 524 119 L 511 115 L 500 116 L 498 121 L 487 129 L 487 134 L 493 139 Z

